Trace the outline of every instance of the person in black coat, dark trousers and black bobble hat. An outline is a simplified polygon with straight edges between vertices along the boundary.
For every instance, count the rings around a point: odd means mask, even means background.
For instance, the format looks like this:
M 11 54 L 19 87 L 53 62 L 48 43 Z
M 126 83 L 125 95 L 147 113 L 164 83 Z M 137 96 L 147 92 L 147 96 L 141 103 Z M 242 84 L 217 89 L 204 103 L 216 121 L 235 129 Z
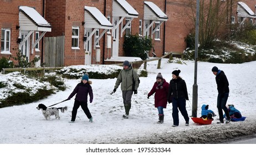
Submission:
M 170 81 L 167 96 L 169 104 L 172 102 L 173 127 L 179 125 L 178 109 L 186 121 L 185 126 L 189 126 L 190 124 L 190 117 L 188 117 L 186 110 L 186 100 L 188 100 L 187 86 L 185 80 L 179 76 L 180 73 L 180 70 L 174 70 L 172 72 L 172 80 Z

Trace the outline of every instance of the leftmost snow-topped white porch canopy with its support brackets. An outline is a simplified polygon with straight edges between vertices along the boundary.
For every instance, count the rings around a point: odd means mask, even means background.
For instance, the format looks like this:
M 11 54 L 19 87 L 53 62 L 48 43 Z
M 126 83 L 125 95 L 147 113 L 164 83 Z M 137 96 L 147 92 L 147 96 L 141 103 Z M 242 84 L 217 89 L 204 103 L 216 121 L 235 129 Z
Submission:
M 45 20 L 34 8 L 27 6 L 19 7 L 19 30 L 28 31 L 27 37 L 19 44 L 19 48 L 28 40 L 34 31 L 43 32 L 40 34 L 39 38 L 34 42 L 34 35 L 32 40 L 32 53 L 33 48 L 37 43 L 43 38 L 44 34 L 52 31 L 52 26 Z

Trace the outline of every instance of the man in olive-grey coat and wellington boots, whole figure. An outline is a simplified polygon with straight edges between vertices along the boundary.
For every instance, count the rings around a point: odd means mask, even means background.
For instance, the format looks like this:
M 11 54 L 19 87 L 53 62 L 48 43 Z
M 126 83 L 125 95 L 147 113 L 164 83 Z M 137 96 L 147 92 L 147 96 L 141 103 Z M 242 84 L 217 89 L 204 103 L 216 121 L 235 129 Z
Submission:
M 134 94 L 137 94 L 137 89 L 139 87 L 139 76 L 137 72 L 132 69 L 129 61 L 125 60 L 123 66 L 124 69 L 122 69 L 117 76 L 113 92 L 116 92 L 117 87 L 121 84 L 122 99 L 125 107 L 125 115 L 122 115 L 122 117 L 129 118 L 131 96 L 133 92 Z

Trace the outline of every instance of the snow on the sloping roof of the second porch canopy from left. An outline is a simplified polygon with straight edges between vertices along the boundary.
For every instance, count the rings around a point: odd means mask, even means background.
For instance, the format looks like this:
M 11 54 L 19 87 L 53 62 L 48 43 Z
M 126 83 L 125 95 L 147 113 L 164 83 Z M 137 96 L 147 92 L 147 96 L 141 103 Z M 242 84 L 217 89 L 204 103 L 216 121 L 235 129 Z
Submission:
M 96 7 L 84 6 L 84 9 L 88 11 L 101 25 L 112 27 L 113 25 L 106 19 L 106 17 Z

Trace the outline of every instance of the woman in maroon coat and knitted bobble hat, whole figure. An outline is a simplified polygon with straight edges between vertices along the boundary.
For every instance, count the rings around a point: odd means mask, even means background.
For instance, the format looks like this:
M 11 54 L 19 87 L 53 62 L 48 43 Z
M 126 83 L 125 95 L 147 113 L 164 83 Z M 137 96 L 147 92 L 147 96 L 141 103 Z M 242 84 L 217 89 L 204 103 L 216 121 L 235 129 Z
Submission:
M 156 76 L 156 82 L 154 83 L 151 91 L 147 94 L 147 99 L 155 93 L 155 107 L 158 110 L 158 122 L 159 124 L 163 123 L 163 108 L 166 108 L 167 105 L 167 95 L 168 95 L 169 83 L 163 79 L 161 73 L 158 73 Z

